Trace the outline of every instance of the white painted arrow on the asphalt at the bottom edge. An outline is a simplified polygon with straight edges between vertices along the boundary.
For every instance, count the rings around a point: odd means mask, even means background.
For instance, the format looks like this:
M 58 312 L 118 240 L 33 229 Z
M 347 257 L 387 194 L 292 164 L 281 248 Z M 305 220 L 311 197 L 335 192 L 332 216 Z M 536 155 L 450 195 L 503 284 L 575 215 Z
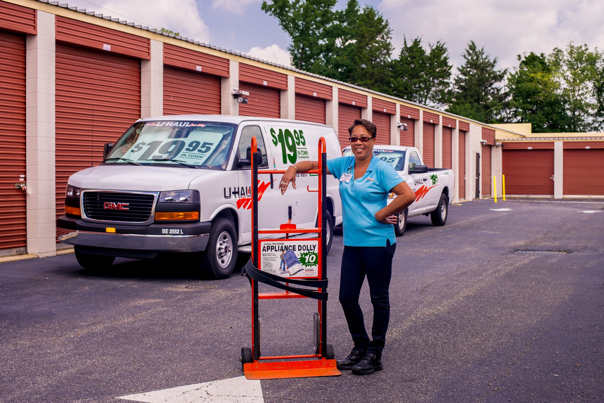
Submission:
M 260 381 L 250 381 L 245 376 L 120 396 L 118 399 L 147 403 L 264 403 Z

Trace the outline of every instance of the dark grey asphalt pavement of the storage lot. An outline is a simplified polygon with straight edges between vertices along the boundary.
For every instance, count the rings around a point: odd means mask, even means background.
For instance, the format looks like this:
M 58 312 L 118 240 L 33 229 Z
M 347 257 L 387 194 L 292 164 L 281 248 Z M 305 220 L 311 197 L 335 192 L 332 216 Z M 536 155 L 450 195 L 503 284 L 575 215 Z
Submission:
M 352 347 L 337 297 L 342 249 L 336 233 L 336 358 Z M 604 401 L 604 203 L 477 200 L 449 206 L 443 227 L 410 218 L 390 291 L 384 370 L 263 380 L 264 401 Z M 241 376 L 250 299 L 239 274 L 205 280 L 185 259 L 116 259 L 106 273 L 74 255 L 2 263 L 0 402 L 115 403 Z M 369 329 L 366 284 L 361 305 Z M 262 354 L 309 354 L 315 309 L 261 301 Z

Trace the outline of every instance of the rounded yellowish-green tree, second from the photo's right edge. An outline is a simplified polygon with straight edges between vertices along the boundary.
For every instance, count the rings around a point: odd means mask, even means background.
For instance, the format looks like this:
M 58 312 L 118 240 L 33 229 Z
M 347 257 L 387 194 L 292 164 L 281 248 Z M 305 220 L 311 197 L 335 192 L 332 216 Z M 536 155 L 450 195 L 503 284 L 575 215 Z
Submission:
M 507 77 L 510 121 L 530 122 L 535 133 L 565 132 L 569 123 L 565 98 L 547 58 L 530 52 L 524 58 L 518 55 L 518 60 L 519 66 Z

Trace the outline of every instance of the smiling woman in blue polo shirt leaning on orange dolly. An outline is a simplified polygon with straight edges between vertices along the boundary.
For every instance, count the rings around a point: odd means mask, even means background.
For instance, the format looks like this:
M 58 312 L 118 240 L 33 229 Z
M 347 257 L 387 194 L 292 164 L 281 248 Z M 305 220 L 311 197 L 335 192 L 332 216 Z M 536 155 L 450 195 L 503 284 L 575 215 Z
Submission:
M 337 361 L 338 369 L 352 369 L 359 374 L 382 370 L 382 350 L 390 320 L 388 288 L 392 258 L 396 248 L 394 226 L 398 212 L 415 200 L 413 190 L 403 182 L 393 167 L 373 156 L 376 126 L 365 119 L 355 119 L 348 129 L 353 156 L 327 160 L 327 174 L 339 179 L 344 222 L 344 253 L 340 277 L 339 301 L 344 309 L 354 347 L 347 357 Z M 297 173 L 318 169 L 318 161 L 291 165 L 281 177 L 281 194 Z M 388 193 L 397 197 L 388 205 Z M 359 294 L 367 275 L 373 328 L 370 340 Z

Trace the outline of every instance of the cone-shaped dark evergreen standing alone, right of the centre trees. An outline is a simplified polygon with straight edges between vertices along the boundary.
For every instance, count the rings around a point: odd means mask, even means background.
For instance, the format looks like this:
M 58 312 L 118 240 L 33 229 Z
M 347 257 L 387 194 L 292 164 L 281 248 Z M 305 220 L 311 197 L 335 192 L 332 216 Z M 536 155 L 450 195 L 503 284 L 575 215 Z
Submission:
M 497 58 L 491 59 L 473 40 L 461 56 L 464 64 L 453 80 L 447 112 L 485 123 L 500 121 L 507 97 L 501 82 L 507 69 L 496 69 Z

